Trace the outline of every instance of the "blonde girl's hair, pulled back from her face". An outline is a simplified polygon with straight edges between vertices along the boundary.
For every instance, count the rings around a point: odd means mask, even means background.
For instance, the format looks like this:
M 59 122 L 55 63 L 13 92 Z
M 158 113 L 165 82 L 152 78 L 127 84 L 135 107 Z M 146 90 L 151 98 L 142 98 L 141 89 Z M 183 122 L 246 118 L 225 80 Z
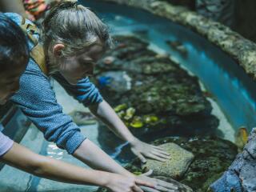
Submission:
M 111 44 L 108 27 L 94 12 L 75 1 L 62 1 L 54 6 L 42 22 L 42 41 L 46 50 L 62 43 L 62 57 L 81 53 L 96 42 L 104 48 Z M 50 73 L 58 66 L 50 65 Z

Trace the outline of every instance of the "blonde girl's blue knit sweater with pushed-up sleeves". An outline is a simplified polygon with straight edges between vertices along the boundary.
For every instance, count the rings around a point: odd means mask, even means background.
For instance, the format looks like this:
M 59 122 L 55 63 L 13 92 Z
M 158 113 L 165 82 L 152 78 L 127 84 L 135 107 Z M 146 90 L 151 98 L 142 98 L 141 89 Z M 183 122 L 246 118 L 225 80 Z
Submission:
M 6 15 L 18 25 L 21 24 L 22 18 L 18 14 Z M 39 38 L 38 34 L 34 34 L 34 37 Z M 29 39 L 28 42 L 31 50 L 34 45 Z M 72 86 L 58 75 L 58 82 L 85 106 L 102 102 L 102 96 L 89 78 L 84 78 L 76 86 Z M 42 73 L 32 58 L 20 79 L 20 90 L 11 100 L 21 107 L 23 113 L 42 131 L 47 141 L 55 142 L 69 154 L 73 154 L 86 139 L 70 116 L 63 113 L 50 85 L 50 78 Z

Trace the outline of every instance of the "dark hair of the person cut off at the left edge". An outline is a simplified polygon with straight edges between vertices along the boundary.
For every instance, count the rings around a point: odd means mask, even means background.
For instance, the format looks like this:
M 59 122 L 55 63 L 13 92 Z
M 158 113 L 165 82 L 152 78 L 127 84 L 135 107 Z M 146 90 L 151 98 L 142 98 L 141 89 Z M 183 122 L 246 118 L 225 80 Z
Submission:
M 0 73 L 24 67 L 30 58 L 22 29 L 0 12 Z

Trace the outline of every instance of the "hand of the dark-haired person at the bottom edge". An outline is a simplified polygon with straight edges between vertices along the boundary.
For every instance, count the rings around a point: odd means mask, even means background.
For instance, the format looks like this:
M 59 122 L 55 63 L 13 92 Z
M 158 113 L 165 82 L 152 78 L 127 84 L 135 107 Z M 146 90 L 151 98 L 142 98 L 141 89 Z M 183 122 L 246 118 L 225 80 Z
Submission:
M 110 174 L 107 178 L 106 188 L 113 192 L 143 192 L 139 186 L 154 189 L 154 185 L 147 182 L 146 179 L 141 180 L 138 177 L 127 177 L 121 174 Z

